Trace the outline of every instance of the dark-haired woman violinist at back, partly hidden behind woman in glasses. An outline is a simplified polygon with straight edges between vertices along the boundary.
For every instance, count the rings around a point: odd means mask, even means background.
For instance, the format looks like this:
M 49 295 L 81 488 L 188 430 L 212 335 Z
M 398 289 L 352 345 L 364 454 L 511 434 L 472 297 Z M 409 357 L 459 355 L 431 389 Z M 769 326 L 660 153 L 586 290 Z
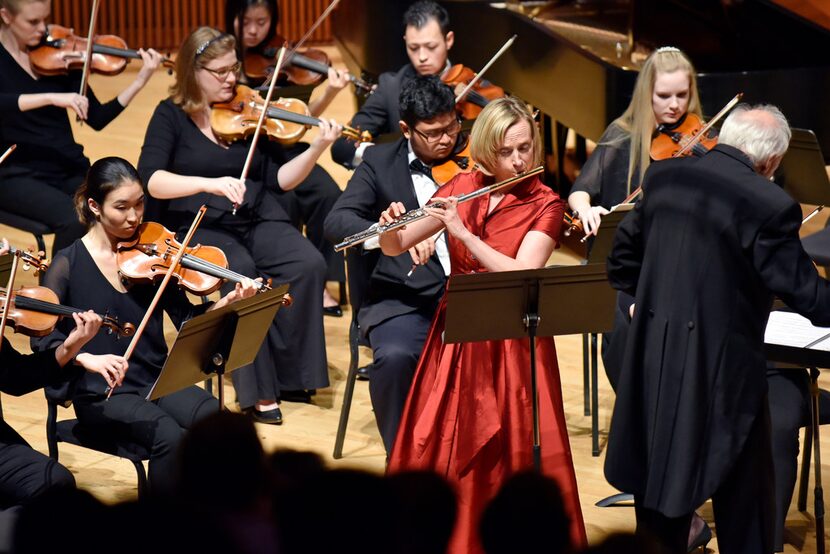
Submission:
M 248 74 L 246 61 L 264 59 L 260 52 L 267 48 L 277 37 L 279 23 L 279 6 L 276 0 L 227 0 L 225 4 L 225 30 L 236 38 L 237 53 L 242 60 L 240 80 L 250 85 L 260 84 L 264 77 Z M 282 44 L 278 44 L 275 51 Z M 276 64 L 274 59 L 271 65 Z M 320 114 L 331 104 L 343 87 L 349 83 L 349 73 L 345 70 L 329 68 L 323 94 L 309 101 L 308 109 L 313 117 Z M 286 148 L 286 156 L 292 159 L 308 148 L 307 143 L 299 142 Z M 322 254 L 328 268 L 327 281 L 342 282 L 346 278 L 343 255 L 335 252 L 323 233 L 323 222 L 332 206 L 340 197 L 340 187 L 328 172 L 315 165 L 302 183 L 291 191 L 278 191 L 277 200 L 291 218 L 291 223 L 298 229 L 306 228 L 308 240 Z M 339 302 L 323 287 L 323 313 L 341 316 Z

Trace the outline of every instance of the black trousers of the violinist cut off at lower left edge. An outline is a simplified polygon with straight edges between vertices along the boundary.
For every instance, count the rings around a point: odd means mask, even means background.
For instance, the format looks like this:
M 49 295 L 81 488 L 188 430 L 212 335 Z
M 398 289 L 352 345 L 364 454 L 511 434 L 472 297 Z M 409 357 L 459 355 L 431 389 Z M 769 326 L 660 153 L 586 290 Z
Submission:
M 0 508 L 22 504 L 53 487 L 75 486 L 68 469 L 34 450 L 10 427 L 6 431 L 0 443 Z

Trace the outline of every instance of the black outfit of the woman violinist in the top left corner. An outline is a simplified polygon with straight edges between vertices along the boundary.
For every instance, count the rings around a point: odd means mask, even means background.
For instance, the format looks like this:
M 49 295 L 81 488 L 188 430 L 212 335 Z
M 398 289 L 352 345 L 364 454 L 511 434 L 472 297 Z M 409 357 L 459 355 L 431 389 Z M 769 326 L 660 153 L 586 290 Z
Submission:
M 77 92 L 80 71 L 69 75 L 32 78 L 0 45 L 0 152 L 17 149 L 0 165 L 0 206 L 3 210 L 46 224 L 55 233 L 53 253 L 80 237 L 72 195 L 81 184 L 89 160 L 75 142 L 64 108 L 45 106 L 21 112 L 21 94 Z M 113 98 L 101 104 L 87 92 L 87 124 L 101 130 L 124 109 Z

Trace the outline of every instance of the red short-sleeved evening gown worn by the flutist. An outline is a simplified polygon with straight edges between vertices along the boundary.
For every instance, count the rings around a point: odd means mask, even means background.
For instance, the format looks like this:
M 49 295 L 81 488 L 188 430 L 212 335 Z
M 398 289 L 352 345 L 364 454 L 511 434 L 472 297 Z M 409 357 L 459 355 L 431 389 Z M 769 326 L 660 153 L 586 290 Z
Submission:
M 436 192 L 459 196 L 491 184 L 480 172 L 461 174 Z M 516 257 L 528 231 L 557 239 L 564 203 L 536 178 L 514 186 L 488 214 L 489 195 L 458 206 L 466 227 L 499 252 Z M 484 267 L 448 236 L 452 273 Z M 446 297 L 445 297 L 446 298 Z M 487 502 L 513 473 L 532 469 L 533 418 L 527 339 L 444 344 L 445 300 L 427 336 L 389 471 L 433 470 L 456 489 L 458 522 L 450 551 L 481 552 L 478 520 Z M 499 314 L 492 314 L 499 317 Z M 537 340 L 542 472 L 562 491 L 571 520 L 571 542 L 586 544 L 571 460 L 559 368 L 552 337 Z

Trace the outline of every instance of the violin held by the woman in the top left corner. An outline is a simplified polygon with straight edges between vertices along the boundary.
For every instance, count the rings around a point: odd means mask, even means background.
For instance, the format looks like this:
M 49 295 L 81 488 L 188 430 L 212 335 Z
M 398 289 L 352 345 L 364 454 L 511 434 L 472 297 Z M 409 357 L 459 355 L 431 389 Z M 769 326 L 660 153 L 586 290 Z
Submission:
M 29 60 L 41 75 L 63 75 L 83 67 L 86 47 L 87 38 L 75 35 L 73 29 L 49 25 L 40 45 L 29 51 Z M 137 50 L 127 48 L 124 39 L 115 35 L 95 35 L 91 71 L 107 76 L 118 75 L 130 59 L 141 59 L 141 55 Z M 162 65 L 172 70 L 174 62 L 164 57 Z

